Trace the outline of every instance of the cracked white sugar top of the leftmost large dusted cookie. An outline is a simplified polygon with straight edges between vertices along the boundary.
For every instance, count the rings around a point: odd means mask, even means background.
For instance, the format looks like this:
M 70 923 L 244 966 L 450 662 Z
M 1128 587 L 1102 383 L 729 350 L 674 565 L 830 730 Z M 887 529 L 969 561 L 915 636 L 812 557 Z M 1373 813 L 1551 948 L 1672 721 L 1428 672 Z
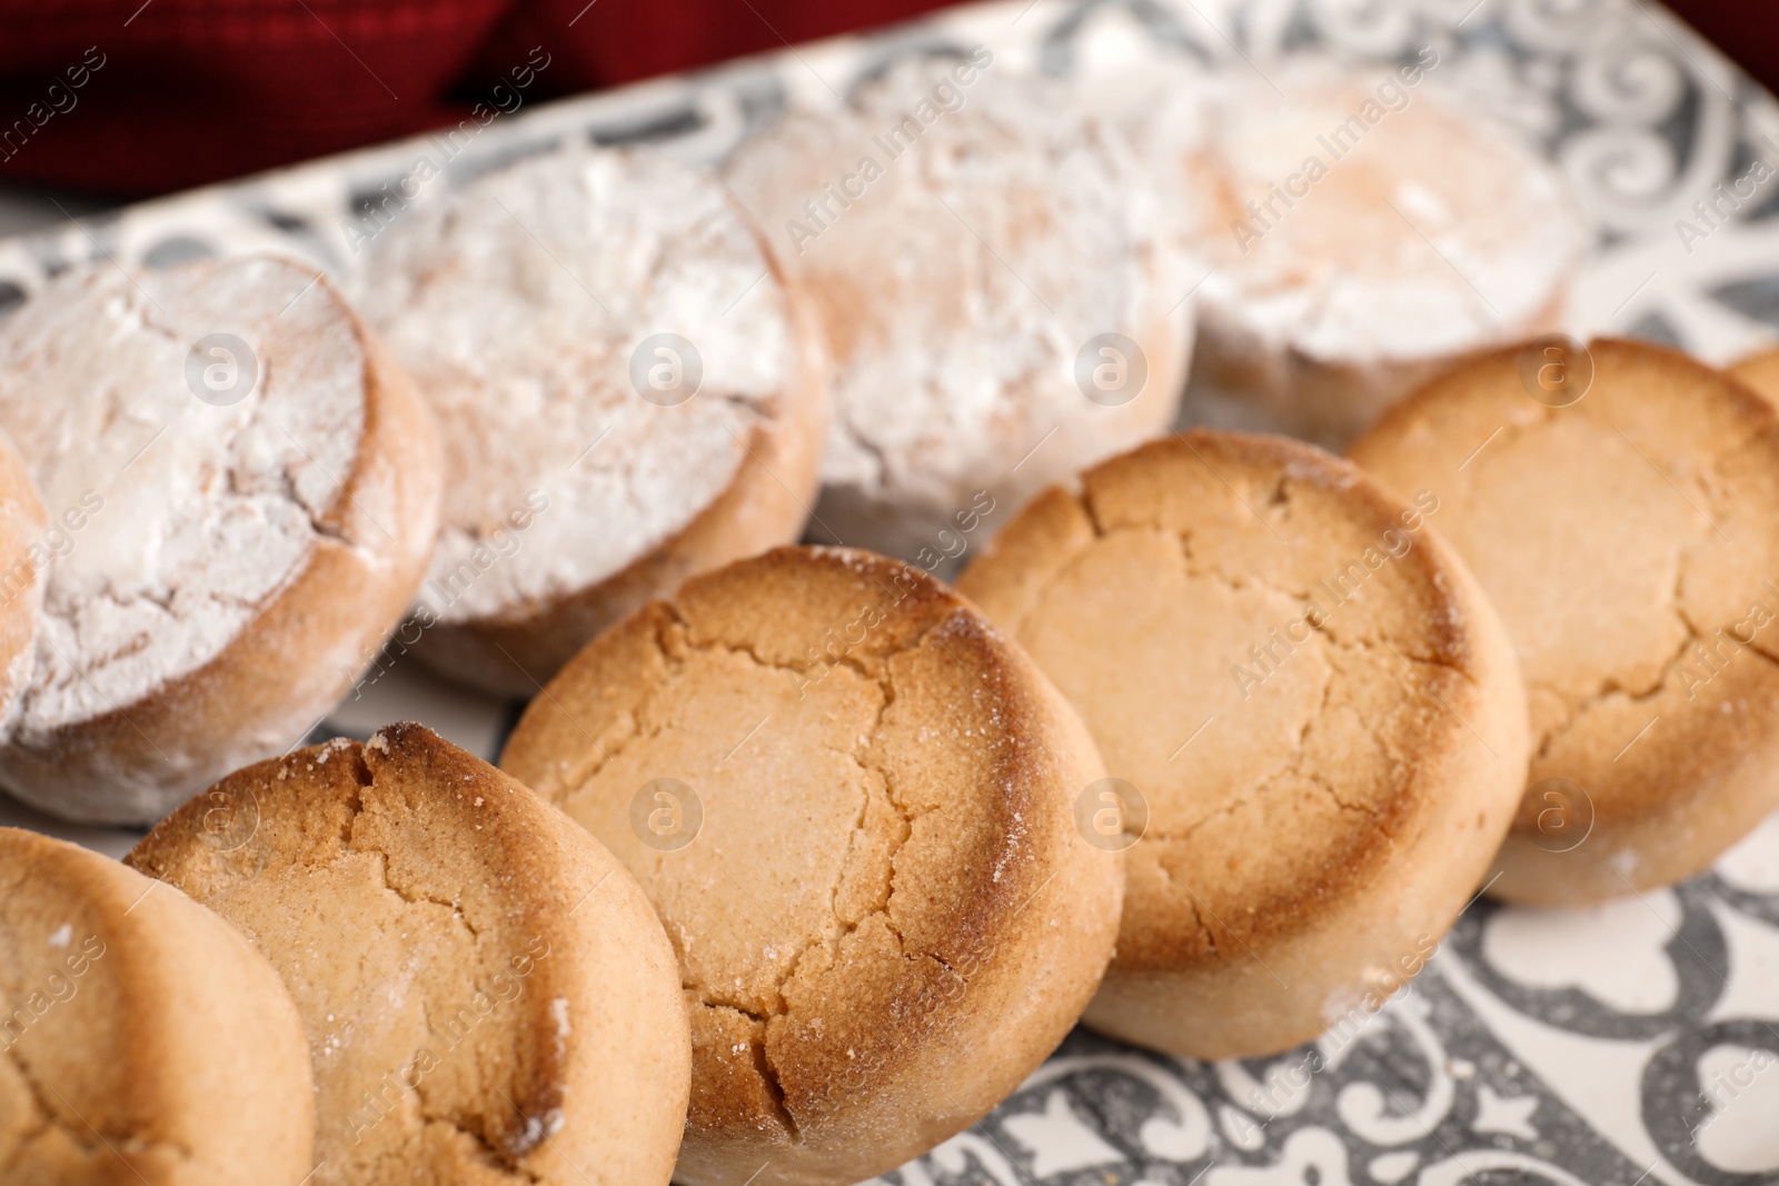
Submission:
M 256 363 L 206 352 L 192 366 L 210 334 Z M 210 402 L 251 370 L 251 391 Z M 48 567 L 36 667 L 9 722 L 30 741 L 212 661 L 301 571 L 358 457 L 365 354 L 345 306 L 299 265 L 133 279 L 98 265 L 0 329 L 0 427 L 52 521 L 80 523 Z

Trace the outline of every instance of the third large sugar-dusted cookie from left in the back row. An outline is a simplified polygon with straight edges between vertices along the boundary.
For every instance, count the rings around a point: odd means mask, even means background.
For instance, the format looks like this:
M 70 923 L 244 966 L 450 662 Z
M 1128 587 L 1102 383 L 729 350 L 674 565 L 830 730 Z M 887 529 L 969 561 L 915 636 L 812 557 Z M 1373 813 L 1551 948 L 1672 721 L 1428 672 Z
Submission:
M 909 60 L 788 112 L 726 178 L 827 331 L 831 542 L 955 555 L 984 493 L 998 528 L 1172 423 L 1188 284 L 1123 135 L 1060 84 L 986 48 Z

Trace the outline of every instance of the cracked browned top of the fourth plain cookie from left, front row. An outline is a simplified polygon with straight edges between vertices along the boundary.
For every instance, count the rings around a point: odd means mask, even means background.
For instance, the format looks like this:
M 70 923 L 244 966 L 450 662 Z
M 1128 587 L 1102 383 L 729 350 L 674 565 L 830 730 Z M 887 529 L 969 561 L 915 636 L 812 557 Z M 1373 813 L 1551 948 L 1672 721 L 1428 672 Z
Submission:
M 1441 514 L 1309 445 L 1192 432 L 1046 493 L 964 574 L 1146 800 L 1115 969 L 1302 932 L 1413 850 L 1439 756 L 1491 759 Z

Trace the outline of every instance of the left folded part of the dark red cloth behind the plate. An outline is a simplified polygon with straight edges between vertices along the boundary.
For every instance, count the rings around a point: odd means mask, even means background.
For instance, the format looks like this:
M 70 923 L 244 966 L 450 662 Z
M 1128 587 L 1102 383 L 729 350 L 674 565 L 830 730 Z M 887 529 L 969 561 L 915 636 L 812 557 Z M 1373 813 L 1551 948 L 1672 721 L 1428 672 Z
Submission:
M 0 180 L 155 192 L 384 140 L 450 117 L 441 96 L 511 0 L 16 0 L 0 23 L 0 121 L 103 66 Z M 128 21 L 128 25 L 126 25 Z M 356 57 L 354 57 L 356 55 Z M 68 100 L 59 100 L 68 103 Z

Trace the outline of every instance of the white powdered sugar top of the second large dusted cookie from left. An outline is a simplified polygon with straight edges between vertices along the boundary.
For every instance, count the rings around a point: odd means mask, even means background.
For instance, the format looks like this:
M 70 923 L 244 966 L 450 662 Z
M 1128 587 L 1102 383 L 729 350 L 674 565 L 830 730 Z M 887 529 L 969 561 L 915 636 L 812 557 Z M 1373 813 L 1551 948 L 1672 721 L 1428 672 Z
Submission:
M 753 229 L 715 180 L 653 153 L 571 148 L 480 178 L 391 228 L 359 297 L 439 416 L 445 528 L 420 597 L 445 622 L 523 613 L 651 553 L 729 487 L 795 377 Z M 699 366 L 683 402 L 649 388 Z

